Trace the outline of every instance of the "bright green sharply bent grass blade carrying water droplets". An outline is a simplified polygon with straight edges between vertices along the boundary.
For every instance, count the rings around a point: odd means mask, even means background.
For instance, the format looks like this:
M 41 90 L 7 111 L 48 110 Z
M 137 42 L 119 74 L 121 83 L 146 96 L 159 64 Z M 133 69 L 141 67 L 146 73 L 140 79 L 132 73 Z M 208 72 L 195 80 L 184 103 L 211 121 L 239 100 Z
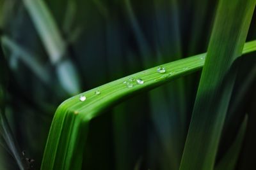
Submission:
M 244 46 L 246 47 L 247 45 Z M 100 111 L 122 99 L 201 69 L 204 66 L 205 55 L 203 53 L 163 64 L 165 73 L 158 73 L 158 67 L 153 67 L 120 78 L 62 103 L 52 121 L 41 169 L 81 169 L 88 124 L 92 118 L 99 116 Z M 141 78 L 144 82 L 137 84 L 136 81 L 129 81 L 131 77 Z M 124 81 L 129 83 L 123 83 Z

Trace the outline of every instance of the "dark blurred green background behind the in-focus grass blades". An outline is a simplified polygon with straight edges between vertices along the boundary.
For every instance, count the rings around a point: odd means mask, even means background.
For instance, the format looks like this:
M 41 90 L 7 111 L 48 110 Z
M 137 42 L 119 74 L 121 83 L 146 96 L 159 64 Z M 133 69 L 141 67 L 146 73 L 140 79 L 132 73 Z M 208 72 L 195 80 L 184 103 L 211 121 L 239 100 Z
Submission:
M 6 116 L 20 150 L 26 150 L 24 158 L 34 159 L 35 169 L 40 169 L 51 120 L 62 101 L 122 76 L 206 52 L 218 3 L 44 1 L 61 35 L 59 45 L 65 48 L 61 59 L 52 62 L 24 1 L 0 1 L 1 55 L 8 62 L 9 72 Z M 255 15 L 247 41 L 256 39 Z M 248 113 L 237 169 L 253 169 L 255 53 L 238 62 L 241 66 L 217 162 Z M 180 78 L 95 118 L 83 169 L 179 169 L 199 78 L 200 73 Z M 0 147 L 0 169 L 17 169 L 8 150 Z

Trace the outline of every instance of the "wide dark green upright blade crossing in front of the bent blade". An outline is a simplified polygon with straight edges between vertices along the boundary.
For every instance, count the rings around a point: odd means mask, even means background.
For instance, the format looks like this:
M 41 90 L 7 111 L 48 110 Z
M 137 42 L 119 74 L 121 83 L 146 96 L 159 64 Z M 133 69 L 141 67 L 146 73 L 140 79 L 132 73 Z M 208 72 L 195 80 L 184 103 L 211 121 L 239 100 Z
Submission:
M 221 0 L 202 71 L 180 170 L 210 170 L 218 150 L 255 0 Z

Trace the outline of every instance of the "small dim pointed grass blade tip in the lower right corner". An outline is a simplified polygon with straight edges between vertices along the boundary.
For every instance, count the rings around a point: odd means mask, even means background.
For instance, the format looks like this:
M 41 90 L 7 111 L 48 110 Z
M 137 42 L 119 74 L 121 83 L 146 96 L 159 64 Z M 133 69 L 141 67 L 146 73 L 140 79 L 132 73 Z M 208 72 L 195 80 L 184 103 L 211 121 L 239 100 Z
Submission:
M 227 153 L 225 153 L 224 157 L 220 160 L 220 162 L 218 162 L 214 170 L 234 170 L 236 168 L 237 159 L 246 132 L 247 122 L 248 115 L 245 115 L 239 131 L 237 132 L 236 139 L 234 139 L 234 142 L 232 143 L 230 148 L 228 148 Z

